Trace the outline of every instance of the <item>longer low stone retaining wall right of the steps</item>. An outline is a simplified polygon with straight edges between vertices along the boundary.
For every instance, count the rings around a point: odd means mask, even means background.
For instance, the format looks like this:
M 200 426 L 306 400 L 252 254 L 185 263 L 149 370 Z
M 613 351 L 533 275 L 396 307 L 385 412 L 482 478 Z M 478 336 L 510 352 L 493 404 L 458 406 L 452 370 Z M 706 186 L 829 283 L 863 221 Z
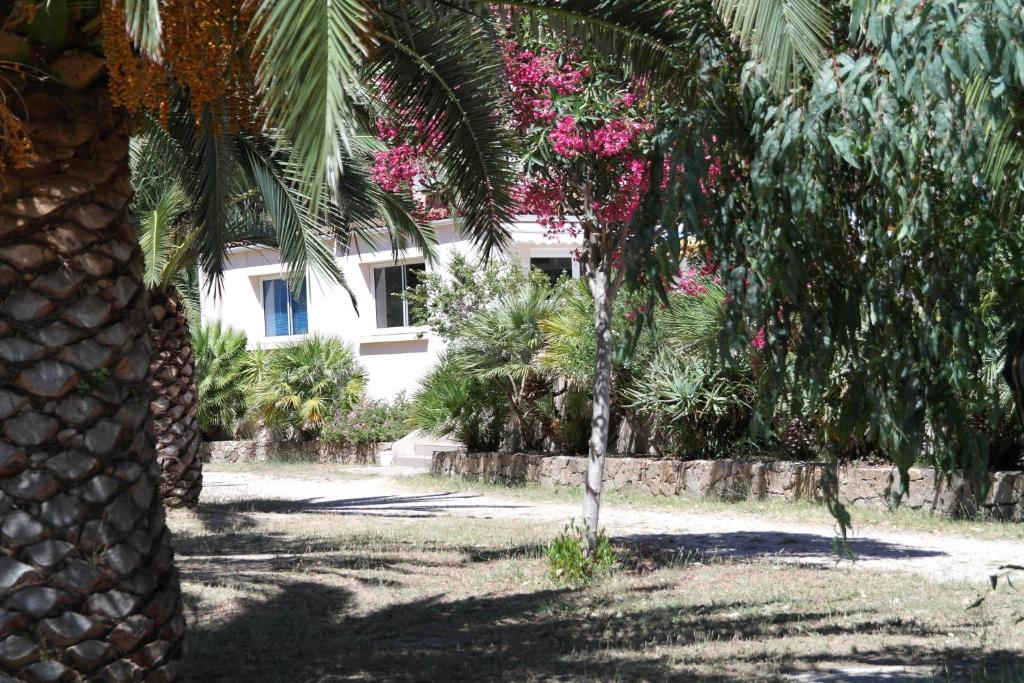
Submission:
M 534 482 L 543 486 L 583 486 L 587 459 L 495 453 L 439 453 L 434 474 L 489 482 Z M 604 484 L 614 490 L 648 496 L 724 500 L 821 500 L 820 463 L 758 463 L 739 460 L 652 460 L 608 458 Z M 840 470 L 840 498 L 847 504 L 887 507 L 885 492 L 896 476 L 891 467 L 850 465 Z M 1024 520 L 1024 473 L 995 472 L 981 512 L 999 519 Z M 963 477 L 936 477 L 928 468 L 910 470 L 910 496 L 901 505 L 962 514 L 979 506 Z

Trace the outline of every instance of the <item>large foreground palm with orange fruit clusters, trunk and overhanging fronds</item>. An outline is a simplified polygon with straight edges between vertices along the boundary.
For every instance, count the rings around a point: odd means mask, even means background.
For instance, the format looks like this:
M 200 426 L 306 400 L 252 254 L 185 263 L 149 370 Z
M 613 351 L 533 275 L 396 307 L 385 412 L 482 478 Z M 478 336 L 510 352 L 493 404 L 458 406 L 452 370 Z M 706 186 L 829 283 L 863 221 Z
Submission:
M 489 4 L 0 2 L 5 673 L 170 681 L 181 651 L 147 415 L 151 313 L 129 213 L 132 119 L 122 106 L 169 127 L 170 102 L 189 94 L 204 124 L 190 139 L 214 162 L 197 178 L 193 212 L 210 226 L 200 263 L 214 279 L 224 260 L 218 197 L 230 178 L 218 172 L 231 154 L 220 133 L 279 128 L 291 140 L 288 175 L 258 178 L 264 197 L 298 187 L 314 214 L 333 202 L 346 220 L 376 217 L 360 202 L 372 189 L 344 173 L 357 163 L 370 81 L 388 82 L 393 99 L 431 122 L 460 223 L 494 247 L 507 237 L 513 178 L 492 117 L 501 82 Z M 689 14 L 666 11 L 670 3 L 509 4 L 547 12 L 654 75 L 667 74 L 669 46 L 686 42 Z M 315 255 L 315 243 L 288 232 L 281 247 Z

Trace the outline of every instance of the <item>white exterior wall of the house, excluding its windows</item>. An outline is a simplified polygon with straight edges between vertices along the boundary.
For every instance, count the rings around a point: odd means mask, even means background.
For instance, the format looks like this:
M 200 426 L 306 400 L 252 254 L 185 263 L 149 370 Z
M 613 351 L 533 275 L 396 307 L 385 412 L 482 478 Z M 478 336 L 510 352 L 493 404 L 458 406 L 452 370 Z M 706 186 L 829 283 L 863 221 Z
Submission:
M 437 221 L 434 227 L 440 243 L 438 259 L 433 266 L 427 266 L 428 271 L 443 271 L 444 264 L 457 252 L 476 256 L 469 242 L 453 229 L 451 221 Z M 575 241 L 572 240 L 547 240 L 543 228 L 530 217 L 523 217 L 510 229 L 512 241 L 508 250 L 496 256 L 518 261 L 523 267 L 528 265 L 530 256 L 567 256 L 575 248 Z M 343 249 L 336 247 L 338 266 L 355 298 L 358 312 L 352 306 L 352 297 L 340 285 L 309 275 L 309 333 L 338 336 L 356 349 L 370 375 L 370 395 L 391 398 L 399 391 L 412 393 L 443 348 L 443 342 L 427 328 L 377 329 L 372 271 L 374 267 L 396 262 L 390 243 L 382 241 L 376 248 L 353 243 L 348 252 L 344 255 Z M 406 250 L 397 257 L 398 263 L 422 260 L 418 249 Z M 578 264 L 573 262 L 573 269 L 577 268 Z M 219 294 L 210 291 L 204 279 L 203 318 L 219 319 L 242 330 L 249 338 L 250 347 L 271 348 L 296 339 L 266 337 L 264 334 L 260 283 L 263 279 L 281 276 L 286 272 L 274 250 L 232 250 L 224 268 Z M 578 271 L 574 274 L 579 274 Z

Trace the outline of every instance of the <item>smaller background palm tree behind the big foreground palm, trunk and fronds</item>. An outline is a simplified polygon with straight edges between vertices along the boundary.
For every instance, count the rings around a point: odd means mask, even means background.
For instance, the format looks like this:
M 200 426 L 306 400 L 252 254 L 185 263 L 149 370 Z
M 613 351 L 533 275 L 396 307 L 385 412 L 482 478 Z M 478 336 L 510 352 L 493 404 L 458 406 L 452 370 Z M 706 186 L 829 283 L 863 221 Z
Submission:
M 293 274 L 313 270 L 343 287 L 324 237 L 347 241 L 348 225 L 317 219 L 308 202 L 289 187 L 281 145 L 267 135 L 212 132 L 211 147 L 195 142 L 195 122 L 182 104 L 174 110 L 167 129 L 153 122 L 131 145 L 135 221 L 145 262 L 143 282 L 153 314 L 154 356 L 151 364 L 157 460 L 161 494 L 169 507 L 193 507 L 202 490 L 199 459 L 199 400 L 195 353 L 188 324 L 199 322 L 198 263 L 204 253 L 220 254 L 229 244 L 279 247 Z M 370 187 L 364 169 L 349 165 L 344 178 Z M 224 190 L 213 201 L 224 206 L 207 209 L 198 222 L 196 207 L 203 198 L 201 179 L 216 173 Z M 272 182 L 266 182 L 270 179 Z M 429 256 L 433 237 L 399 203 L 386 203 L 380 194 L 364 193 L 357 200 L 364 212 L 376 212 L 391 241 L 413 241 Z M 325 217 L 339 218 L 336 208 Z M 354 226 L 372 242 L 361 226 Z

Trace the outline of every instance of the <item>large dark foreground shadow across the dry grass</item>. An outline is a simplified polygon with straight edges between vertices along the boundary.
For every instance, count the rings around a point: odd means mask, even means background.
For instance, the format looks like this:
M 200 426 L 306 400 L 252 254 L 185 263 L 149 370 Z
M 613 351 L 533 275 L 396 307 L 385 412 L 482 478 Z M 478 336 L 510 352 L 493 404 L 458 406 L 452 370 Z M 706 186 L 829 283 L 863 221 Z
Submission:
M 497 562 L 505 557 L 503 553 L 474 554 L 467 549 L 465 561 Z M 872 618 L 869 611 L 862 612 L 861 621 L 840 626 L 827 609 L 799 610 L 770 601 L 717 601 L 709 595 L 685 610 L 655 599 L 642 602 L 642 608 L 635 611 L 613 615 L 604 611 L 597 616 L 589 610 L 601 607 L 602 599 L 608 598 L 597 597 L 584 607 L 582 594 L 567 589 L 457 600 L 439 593 L 376 606 L 372 601 L 356 604 L 354 586 L 312 581 L 315 573 L 346 575 L 351 570 L 377 569 L 376 578 L 366 572 L 348 575 L 384 590 L 400 590 L 408 573 L 436 571 L 442 563 L 426 555 L 426 559 L 379 556 L 353 548 L 329 557 L 184 558 L 186 581 L 230 577 L 255 597 L 242 600 L 240 608 L 223 618 L 194 625 L 183 680 L 752 680 L 730 673 L 745 655 L 734 649 L 716 653 L 708 647 L 731 641 L 762 644 L 755 650 L 761 654 L 752 653 L 748 660 L 755 661 L 755 670 L 765 672 L 756 680 L 766 681 L 1014 681 L 1019 679 L 1013 676 L 1024 667 L 1019 652 L 946 647 L 945 633 L 912 620 Z M 751 618 L 762 608 L 769 617 Z M 844 637 L 864 632 L 906 636 L 928 644 L 764 659 L 765 651 L 788 650 L 790 638 L 828 637 L 842 642 Z M 662 647 L 665 644 L 677 651 L 687 648 L 688 658 L 670 657 Z M 947 671 L 935 677 L 883 674 L 893 667 L 925 672 L 945 667 Z M 779 668 L 782 673 L 772 673 Z M 809 670 L 815 672 L 811 678 L 791 678 Z M 750 671 L 749 665 L 744 671 Z M 829 677 L 825 672 L 839 673 Z

